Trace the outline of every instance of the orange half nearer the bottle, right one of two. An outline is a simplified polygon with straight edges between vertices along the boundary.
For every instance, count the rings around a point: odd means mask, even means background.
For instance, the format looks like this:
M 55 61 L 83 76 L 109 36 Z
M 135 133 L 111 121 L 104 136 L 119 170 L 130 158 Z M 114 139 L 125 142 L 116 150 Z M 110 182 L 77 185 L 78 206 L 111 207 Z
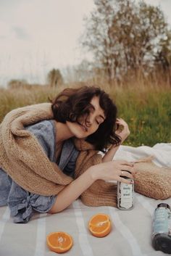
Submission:
M 107 236 L 112 228 L 111 221 L 109 219 L 109 215 L 98 213 L 93 215 L 91 220 L 88 223 L 88 229 L 91 231 L 93 236 L 104 237 Z

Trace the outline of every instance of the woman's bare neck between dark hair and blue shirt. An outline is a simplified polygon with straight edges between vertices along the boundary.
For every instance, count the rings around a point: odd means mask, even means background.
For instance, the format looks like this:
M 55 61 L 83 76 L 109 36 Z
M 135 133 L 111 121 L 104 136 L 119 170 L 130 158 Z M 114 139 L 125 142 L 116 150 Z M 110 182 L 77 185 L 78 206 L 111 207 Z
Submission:
M 60 123 L 55 121 L 56 130 L 57 130 L 57 142 L 66 141 L 67 139 L 70 139 L 73 137 L 73 134 L 71 133 L 70 129 L 66 125 L 66 123 Z

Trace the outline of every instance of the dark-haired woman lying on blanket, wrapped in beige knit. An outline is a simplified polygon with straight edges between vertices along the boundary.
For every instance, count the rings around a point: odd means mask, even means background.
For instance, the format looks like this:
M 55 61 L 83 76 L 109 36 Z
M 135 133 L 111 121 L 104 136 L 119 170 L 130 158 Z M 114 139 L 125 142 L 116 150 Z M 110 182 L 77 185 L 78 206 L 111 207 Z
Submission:
M 0 126 L 0 205 L 15 223 L 27 223 L 34 210 L 60 212 L 78 197 L 116 206 L 116 184 L 105 181 L 134 178 L 133 163 L 112 161 L 129 133 L 108 94 L 93 86 L 12 110 Z

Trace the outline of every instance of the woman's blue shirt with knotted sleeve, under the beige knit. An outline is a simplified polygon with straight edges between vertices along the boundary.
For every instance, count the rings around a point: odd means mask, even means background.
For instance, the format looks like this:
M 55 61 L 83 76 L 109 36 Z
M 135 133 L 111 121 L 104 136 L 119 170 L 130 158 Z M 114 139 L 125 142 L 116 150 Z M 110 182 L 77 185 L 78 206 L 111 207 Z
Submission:
M 34 125 L 29 125 L 25 129 L 36 136 L 49 160 L 56 162 L 56 129 L 54 120 L 44 120 Z M 72 178 L 74 178 L 75 162 L 78 154 L 79 152 L 75 148 L 72 139 L 64 141 L 58 165 L 66 175 Z M 56 197 L 41 196 L 22 189 L 0 168 L 0 206 L 9 206 L 14 223 L 27 223 L 34 210 L 48 212 L 54 205 Z

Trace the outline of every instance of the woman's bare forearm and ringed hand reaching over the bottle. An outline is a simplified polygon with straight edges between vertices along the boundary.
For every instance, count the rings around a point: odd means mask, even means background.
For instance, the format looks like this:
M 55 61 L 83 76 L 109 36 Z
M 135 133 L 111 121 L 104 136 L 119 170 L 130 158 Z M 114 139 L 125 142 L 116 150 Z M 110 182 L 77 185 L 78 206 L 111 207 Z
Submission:
M 128 171 L 130 173 L 128 173 Z M 49 210 L 49 213 L 61 212 L 67 208 L 72 202 L 75 201 L 83 191 L 89 188 L 94 181 L 101 179 L 104 181 L 122 181 L 124 183 L 130 183 L 130 181 L 120 176 L 127 176 L 133 178 L 135 171 L 133 170 L 133 164 L 126 161 L 111 161 L 101 162 L 98 165 L 93 165 L 88 168 L 85 173 L 80 175 L 69 185 L 67 185 L 57 195 L 57 199 L 54 205 Z

